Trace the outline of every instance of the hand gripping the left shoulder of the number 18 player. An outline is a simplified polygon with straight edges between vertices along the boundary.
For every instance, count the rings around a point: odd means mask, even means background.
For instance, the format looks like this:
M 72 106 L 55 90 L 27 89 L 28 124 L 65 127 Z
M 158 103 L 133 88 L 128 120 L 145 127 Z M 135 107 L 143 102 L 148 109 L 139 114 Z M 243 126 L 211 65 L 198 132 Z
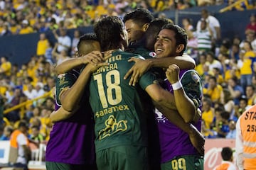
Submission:
M 80 60 L 83 64 L 93 64 L 97 65 L 101 62 L 103 62 L 103 55 L 100 51 L 92 51 L 88 53 L 87 55 L 82 55 L 80 57 Z

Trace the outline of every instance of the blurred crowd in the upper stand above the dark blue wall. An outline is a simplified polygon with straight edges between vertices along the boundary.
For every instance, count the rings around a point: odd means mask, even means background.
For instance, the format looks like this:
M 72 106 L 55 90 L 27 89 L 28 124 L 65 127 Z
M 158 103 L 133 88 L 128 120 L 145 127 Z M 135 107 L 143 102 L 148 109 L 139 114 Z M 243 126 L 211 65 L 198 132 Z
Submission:
M 236 0 L 1 0 L 0 36 L 46 32 L 58 28 L 90 26 L 101 16 L 124 16 L 134 8 L 153 13 L 193 6 L 230 5 Z M 244 1 L 231 10 L 255 8 L 255 2 Z

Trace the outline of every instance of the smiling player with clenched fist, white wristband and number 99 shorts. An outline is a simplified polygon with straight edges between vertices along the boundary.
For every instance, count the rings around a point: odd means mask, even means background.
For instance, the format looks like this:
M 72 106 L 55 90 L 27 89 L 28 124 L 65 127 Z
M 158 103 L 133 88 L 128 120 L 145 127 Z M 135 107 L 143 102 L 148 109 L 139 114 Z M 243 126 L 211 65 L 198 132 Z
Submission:
M 156 56 L 181 56 L 186 49 L 186 42 L 185 30 L 177 25 L 168 24 L 156 38 Z M 176 64 L 171 64 L 166 70 L 166 78 L 166 89 L 174 94 L 178 113 L 186 123 L 191 123 L 200 132 L 201 117 L 198 118 L 196 109 L 201 107 L 203 93 L 199 75 L 193 69 L 180 70 Z M 191 106 L 191 102 L 194 107 Z M 193 141 L 189 139 L 188 133 L 177 128 L 169 121 L 171 118 L 163 115 L 161 111 L 164 110 L 156 110 L 161 145 L 161 169 L 203 169 L 203 146 L 201 152 L 193 147 Z

